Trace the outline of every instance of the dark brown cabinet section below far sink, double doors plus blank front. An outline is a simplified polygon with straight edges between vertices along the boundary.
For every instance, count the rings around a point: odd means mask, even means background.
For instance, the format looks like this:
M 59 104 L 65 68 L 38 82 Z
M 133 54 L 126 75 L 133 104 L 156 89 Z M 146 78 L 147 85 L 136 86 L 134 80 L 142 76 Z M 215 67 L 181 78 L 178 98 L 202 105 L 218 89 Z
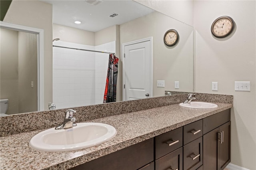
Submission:
M 223 170 L 230 163 L 230 110 L 221 112 L 224 118 L 220 119 L 220 113 L 214 117 L 208 117 L 204 122 L 207 133 L 203 135 L 203 164 L 204 170 Z M 204 119 L 204 120 L 205 120 Z M 211 120 L 212 119 L 212 120 Z M 210 124 L 210 128 L 207 123 Z M 224 124 L 222 124 L 224 122 Z M 226 123 L 225 123 L 226 122 Z M 215 124 L 212 125 L 212 124 Z M 222 125 L 221 125 L 222 124 Z

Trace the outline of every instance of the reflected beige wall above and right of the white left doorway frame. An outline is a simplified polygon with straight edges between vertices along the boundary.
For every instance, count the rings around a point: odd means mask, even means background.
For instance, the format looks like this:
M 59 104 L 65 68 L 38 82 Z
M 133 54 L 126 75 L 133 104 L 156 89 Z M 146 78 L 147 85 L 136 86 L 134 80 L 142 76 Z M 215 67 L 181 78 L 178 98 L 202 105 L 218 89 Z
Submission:
M 52 102 L 52 5 L 37 0 L 13 0 L 4 22 L 44 30 L 44 109 L 46 110 L 48 102 Z

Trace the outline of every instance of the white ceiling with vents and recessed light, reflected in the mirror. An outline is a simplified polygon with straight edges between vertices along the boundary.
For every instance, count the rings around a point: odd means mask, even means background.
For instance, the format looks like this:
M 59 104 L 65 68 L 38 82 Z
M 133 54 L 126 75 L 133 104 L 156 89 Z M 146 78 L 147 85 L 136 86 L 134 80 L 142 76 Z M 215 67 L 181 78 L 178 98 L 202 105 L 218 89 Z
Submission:
M 54 24 L 92 32 L 120 25 L 154 12 L 154 10 L 132 0 L 102 0 L 96 5 L 88 4 L 85 0 L 41 1 L 52 4 Z M 117 13 L 118 16 L 110 17 L 113 13 Z M 76 20 L 81 21 L 82 24 L 75 24 Z

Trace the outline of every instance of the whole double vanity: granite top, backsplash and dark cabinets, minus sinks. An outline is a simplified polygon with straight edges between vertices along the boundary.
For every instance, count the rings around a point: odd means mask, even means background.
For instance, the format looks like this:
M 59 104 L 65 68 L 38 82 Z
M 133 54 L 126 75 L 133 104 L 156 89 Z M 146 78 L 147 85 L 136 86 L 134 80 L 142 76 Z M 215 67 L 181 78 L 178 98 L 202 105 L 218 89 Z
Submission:
M 207 169 L 210 165 L 216 170 L 223 169 L 230 162 L 230 108 L 233 97 L 216 97 L 212 94 L 207 97 L 207 94 L 199 93 L 196 97 L 200 101 L 215 103 L 218 107 L 180 107 L 179 103 L 186 95 L 177 95 L 91 106 L 86 107 L 87 112 L 84 107 L 74 108 L 77 111 L 77 120 L 106 123 L 115 127 L 117 134 L 103 144 L 65 152 L 38 151 L 28 145 L 34 135 L 61 122 L 62 110 L 37 113 L 33 116 L 21 114 L 2 117 L 0 122 L 4 128 L 1 129 L 0 138 L 0 168 L 187 170 Z M 110 111 L 113 106 L 119 111 L 116 115 L 110 115 L 113 113 Z M 89 111 L 93 113 L 94 119 L 84 120 L 90 114 Z M 99 117 L 96 117 L 97 113 Z M 48 116 L 46 120 L 42 119 L 45 115 Z M 56 125 L 45 127 L 51 123 L 49 120 L 52 121 L 58 116 L 60 118 L 55 121 Z

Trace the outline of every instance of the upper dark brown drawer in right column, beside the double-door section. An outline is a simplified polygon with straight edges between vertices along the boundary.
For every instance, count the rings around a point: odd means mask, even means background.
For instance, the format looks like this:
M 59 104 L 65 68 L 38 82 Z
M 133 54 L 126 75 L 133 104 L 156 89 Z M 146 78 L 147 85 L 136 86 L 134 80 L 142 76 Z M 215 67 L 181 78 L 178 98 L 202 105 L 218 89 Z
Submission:
M 183 143 L 188 144 L 189 142 L 199 138 L 203 134 L 203 120 L 199 120 L 183 127 Z

